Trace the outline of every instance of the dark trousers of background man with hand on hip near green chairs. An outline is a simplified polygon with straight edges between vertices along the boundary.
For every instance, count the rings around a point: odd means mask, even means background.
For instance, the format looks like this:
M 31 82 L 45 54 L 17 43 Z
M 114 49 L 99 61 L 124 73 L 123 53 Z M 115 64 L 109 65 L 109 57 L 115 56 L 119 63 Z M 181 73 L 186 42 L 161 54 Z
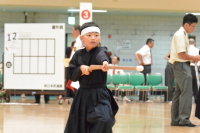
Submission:
M 151 73 L 151 65 L 144 65 L 144 70 L 141 72 L 144 74 L 144 85 L 147 85 L 147 74 Z M 146 101 L 147 99 L 147 92 L 140 91 L 139 100 Z

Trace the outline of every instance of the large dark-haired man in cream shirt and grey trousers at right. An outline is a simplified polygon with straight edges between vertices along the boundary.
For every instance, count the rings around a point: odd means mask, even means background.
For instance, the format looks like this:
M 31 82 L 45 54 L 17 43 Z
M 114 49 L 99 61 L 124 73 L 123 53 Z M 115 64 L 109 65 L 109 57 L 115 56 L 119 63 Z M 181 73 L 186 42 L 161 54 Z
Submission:
M 190 121 L 192 109 L 192 74 L 190 62 L 199 61 L 200 56 L 191 56 L 188 54 L 188 33 L 194 31 L 197 22 L 198 19 L 193 14 L 185 15 L 182 27 L 172 38 L 170 62 L 173 64 L 176 86 L 172 99 L 171 126 L 195 126 Z

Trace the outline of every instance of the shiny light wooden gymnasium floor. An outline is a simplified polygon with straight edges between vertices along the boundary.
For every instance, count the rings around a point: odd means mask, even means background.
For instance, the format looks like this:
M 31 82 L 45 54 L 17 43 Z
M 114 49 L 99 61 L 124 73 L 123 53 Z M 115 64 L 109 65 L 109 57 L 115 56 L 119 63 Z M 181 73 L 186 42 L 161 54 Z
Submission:
M 33 99 L 12 99 L 11 103 L 33 103 Z M 200 133 L 200 120 L 191 121 L 197 127 L 171 127 L 169 103 L 124 103 L 118 102 L 120 110 L 116 116 L 113 133 Z M 68 118 L 69 104 L 58 105 L 50 100 L 39 105 L 0 104 L 0 133 L 63 133 Z

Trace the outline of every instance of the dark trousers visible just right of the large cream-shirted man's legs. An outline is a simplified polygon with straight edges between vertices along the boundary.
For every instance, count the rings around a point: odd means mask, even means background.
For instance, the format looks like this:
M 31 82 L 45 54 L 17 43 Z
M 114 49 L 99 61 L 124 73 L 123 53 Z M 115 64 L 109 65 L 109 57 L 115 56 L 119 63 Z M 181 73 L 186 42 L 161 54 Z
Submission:
M 193 91 L 193 96 L 196 102 L 197 94 L 198 94 L 196 71 L 195 71 L 195 66 L 190 66 L 190 67 L 191 67 L 191 72 L 192 72 L 192 91 Z

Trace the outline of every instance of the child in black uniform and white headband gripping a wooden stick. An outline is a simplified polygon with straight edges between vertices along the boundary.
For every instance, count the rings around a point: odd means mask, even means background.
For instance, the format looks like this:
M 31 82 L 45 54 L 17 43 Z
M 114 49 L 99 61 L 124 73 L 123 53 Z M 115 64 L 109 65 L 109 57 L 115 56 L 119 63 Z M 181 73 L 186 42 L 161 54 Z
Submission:
M 108 56 L 98 47 L 100 29 L 94 22 L 81 26 L 84 49 L 75 52 L 69 64 L 70 79 L 79 81 L 64 133 L 112 133 L 118 106 L 106 88 Z M 101 70 L 88 71 L 90 65 L 103 65 Z

